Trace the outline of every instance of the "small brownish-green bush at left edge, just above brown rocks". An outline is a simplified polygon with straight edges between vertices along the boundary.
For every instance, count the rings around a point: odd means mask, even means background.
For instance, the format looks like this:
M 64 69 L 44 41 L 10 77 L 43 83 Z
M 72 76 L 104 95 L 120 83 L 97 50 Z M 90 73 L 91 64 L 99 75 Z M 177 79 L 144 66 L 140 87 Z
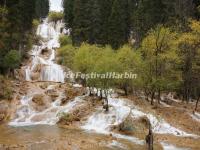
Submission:
M 5 77 L 0 76 L 0 100 L 12 100 L 12 83 Z

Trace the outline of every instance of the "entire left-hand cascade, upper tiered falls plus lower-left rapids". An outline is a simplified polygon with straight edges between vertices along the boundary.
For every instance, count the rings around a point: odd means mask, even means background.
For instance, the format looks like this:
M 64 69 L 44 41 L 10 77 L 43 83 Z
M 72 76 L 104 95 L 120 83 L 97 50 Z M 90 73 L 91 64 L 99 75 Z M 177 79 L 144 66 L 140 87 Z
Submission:
M 37 35 L 41 36 L 42 41 L 40 45 L 34 45 L 30 55 L 31 63 L 25 68 L 25 80 L 26 81 L 47 81 L 47 82 L 59 82 L 64 83 L 65 73 L 62 67 L 54 63 L 55 49 L 60 47 L 59 36 L 61 28 L 64 27 L 62 21 L 48 22 L 47 19 L 38 26 Z M 46 50 L 48 54 L 42 55 L 42 51 Z M 33 76 L 36 77 L 33 77 Z M 49 89 L 55 90 L 55 86 L 49 85 Z M 43 111 L 37 111 L 33 108 L 32 99 L 35 94 L 29 92 L 26 96 L 21 98 L 21 105 L 19 106 L 16 118 L 9 124 L 13 126 L 26 126 L 37 124 L 49 124 L 54 125 L 59 120 L 58 114 L 61 112 L 68 112 L 73 107 L 79 106 L 83 101 L 81 97 L 75 98 L 74 101 L 69 102 L 65 106 L 61 106 L 61 100 L 65 97 L 63 92 L 59 92 L 60 95 L 54 102 L 50 103 L 48 108 Z

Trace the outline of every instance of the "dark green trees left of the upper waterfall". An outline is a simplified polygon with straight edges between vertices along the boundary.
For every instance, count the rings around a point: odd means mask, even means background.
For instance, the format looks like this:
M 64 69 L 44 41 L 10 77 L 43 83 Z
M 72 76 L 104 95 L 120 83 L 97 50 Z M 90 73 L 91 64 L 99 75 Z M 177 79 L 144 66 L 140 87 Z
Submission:
M 34 18 L 41 17 L 35 13 L 44 8 L 40 7 L 42 4 L 38 2 L 49 4 L 48 0 L 6 0 L 0 3 L 0 73 L 19 66 L 19 60 L 23 59 L 31 48 L 38 25 Z M 20 52 L 20 58 L 17 58 L 17 53 L 11 51 L 13 49 Z M 11 61 L 12 58 L 14 60 Z M 7 62 L 9 64 L 6 64 Z

